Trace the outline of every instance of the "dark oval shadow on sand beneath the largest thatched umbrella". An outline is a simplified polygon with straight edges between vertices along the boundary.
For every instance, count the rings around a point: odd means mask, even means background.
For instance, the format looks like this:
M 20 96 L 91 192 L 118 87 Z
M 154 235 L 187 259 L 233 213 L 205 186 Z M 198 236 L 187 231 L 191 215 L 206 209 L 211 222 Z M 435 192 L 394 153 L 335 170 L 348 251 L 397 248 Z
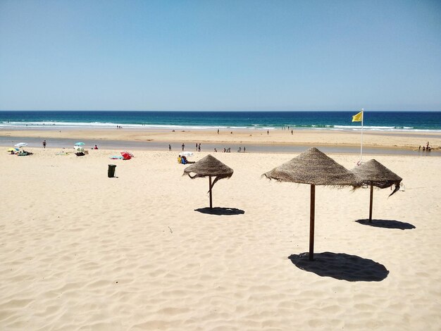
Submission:
M 325 251 L 314 254 L 314 261 L 309 261 L 309 253 L 292 254 L 289 259 L 299 269 L 348 282 L 380 282 L 389 274 L 383 264 L 344 253 Z

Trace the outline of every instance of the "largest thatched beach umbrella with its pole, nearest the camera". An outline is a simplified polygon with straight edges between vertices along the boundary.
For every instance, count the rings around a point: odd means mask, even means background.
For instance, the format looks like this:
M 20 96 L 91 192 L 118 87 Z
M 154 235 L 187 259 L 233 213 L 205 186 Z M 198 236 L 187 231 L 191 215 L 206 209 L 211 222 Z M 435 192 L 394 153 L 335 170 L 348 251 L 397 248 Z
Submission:
M 304 151 L 291 161 L 283 163 L 263 175 L 280 182 L 297 182 L 311 185 L 309 260 L 313 261 L 316 185 L 359 187 L 361 181 L 356 175 L 316 148 Z

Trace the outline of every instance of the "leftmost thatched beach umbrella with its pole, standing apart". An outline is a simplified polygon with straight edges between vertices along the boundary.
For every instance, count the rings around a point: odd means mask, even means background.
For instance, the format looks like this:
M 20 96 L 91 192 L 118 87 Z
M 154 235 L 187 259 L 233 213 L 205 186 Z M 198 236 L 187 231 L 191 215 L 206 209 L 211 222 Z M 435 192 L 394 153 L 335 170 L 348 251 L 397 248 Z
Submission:
M 192 175 L 194 173 L 194 175 Z M 211 190 L 218 180 L 223 178 L 230 178 L 233 170 L 228 165 L 223 164 L 217 158 L 207 155 L 201 160 L 197 161 L 184 169 L 184 175 L 187 174 L 190 178 L 209 177 L 209 193 L 210 193 L 210 209 L 213 208 L 213 200 L 211 197 Z M 211 182 L 211 177 L 215 177 Z

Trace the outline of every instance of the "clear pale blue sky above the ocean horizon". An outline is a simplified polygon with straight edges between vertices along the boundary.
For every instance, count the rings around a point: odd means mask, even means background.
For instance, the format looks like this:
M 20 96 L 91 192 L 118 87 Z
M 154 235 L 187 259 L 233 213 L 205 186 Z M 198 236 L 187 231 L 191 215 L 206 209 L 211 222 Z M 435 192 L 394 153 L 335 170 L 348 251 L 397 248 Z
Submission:
M 441 1 L 0 0 L 0 110 L 441 111 Z

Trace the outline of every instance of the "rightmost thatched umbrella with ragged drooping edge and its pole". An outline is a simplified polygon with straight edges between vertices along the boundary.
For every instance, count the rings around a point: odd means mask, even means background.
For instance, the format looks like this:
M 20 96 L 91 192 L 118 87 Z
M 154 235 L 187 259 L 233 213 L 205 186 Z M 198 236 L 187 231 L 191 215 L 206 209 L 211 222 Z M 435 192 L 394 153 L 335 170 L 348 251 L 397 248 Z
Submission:
M 373 200 L 373 187 L 380 187 L 385 189 L 395 185 L 394 194 L 399 189 L 399 183 L 402 181 L 402 177 L 399 177 L 396 173 L 387 169 L 383 164 L 375 159 L 357 165 L 352 169 L 352 173 L 359 176 L 363 180 L 364 184 L 371 185 L 371 199 L 369 202 L 369 223 L 372 223 L 372 200 Z

